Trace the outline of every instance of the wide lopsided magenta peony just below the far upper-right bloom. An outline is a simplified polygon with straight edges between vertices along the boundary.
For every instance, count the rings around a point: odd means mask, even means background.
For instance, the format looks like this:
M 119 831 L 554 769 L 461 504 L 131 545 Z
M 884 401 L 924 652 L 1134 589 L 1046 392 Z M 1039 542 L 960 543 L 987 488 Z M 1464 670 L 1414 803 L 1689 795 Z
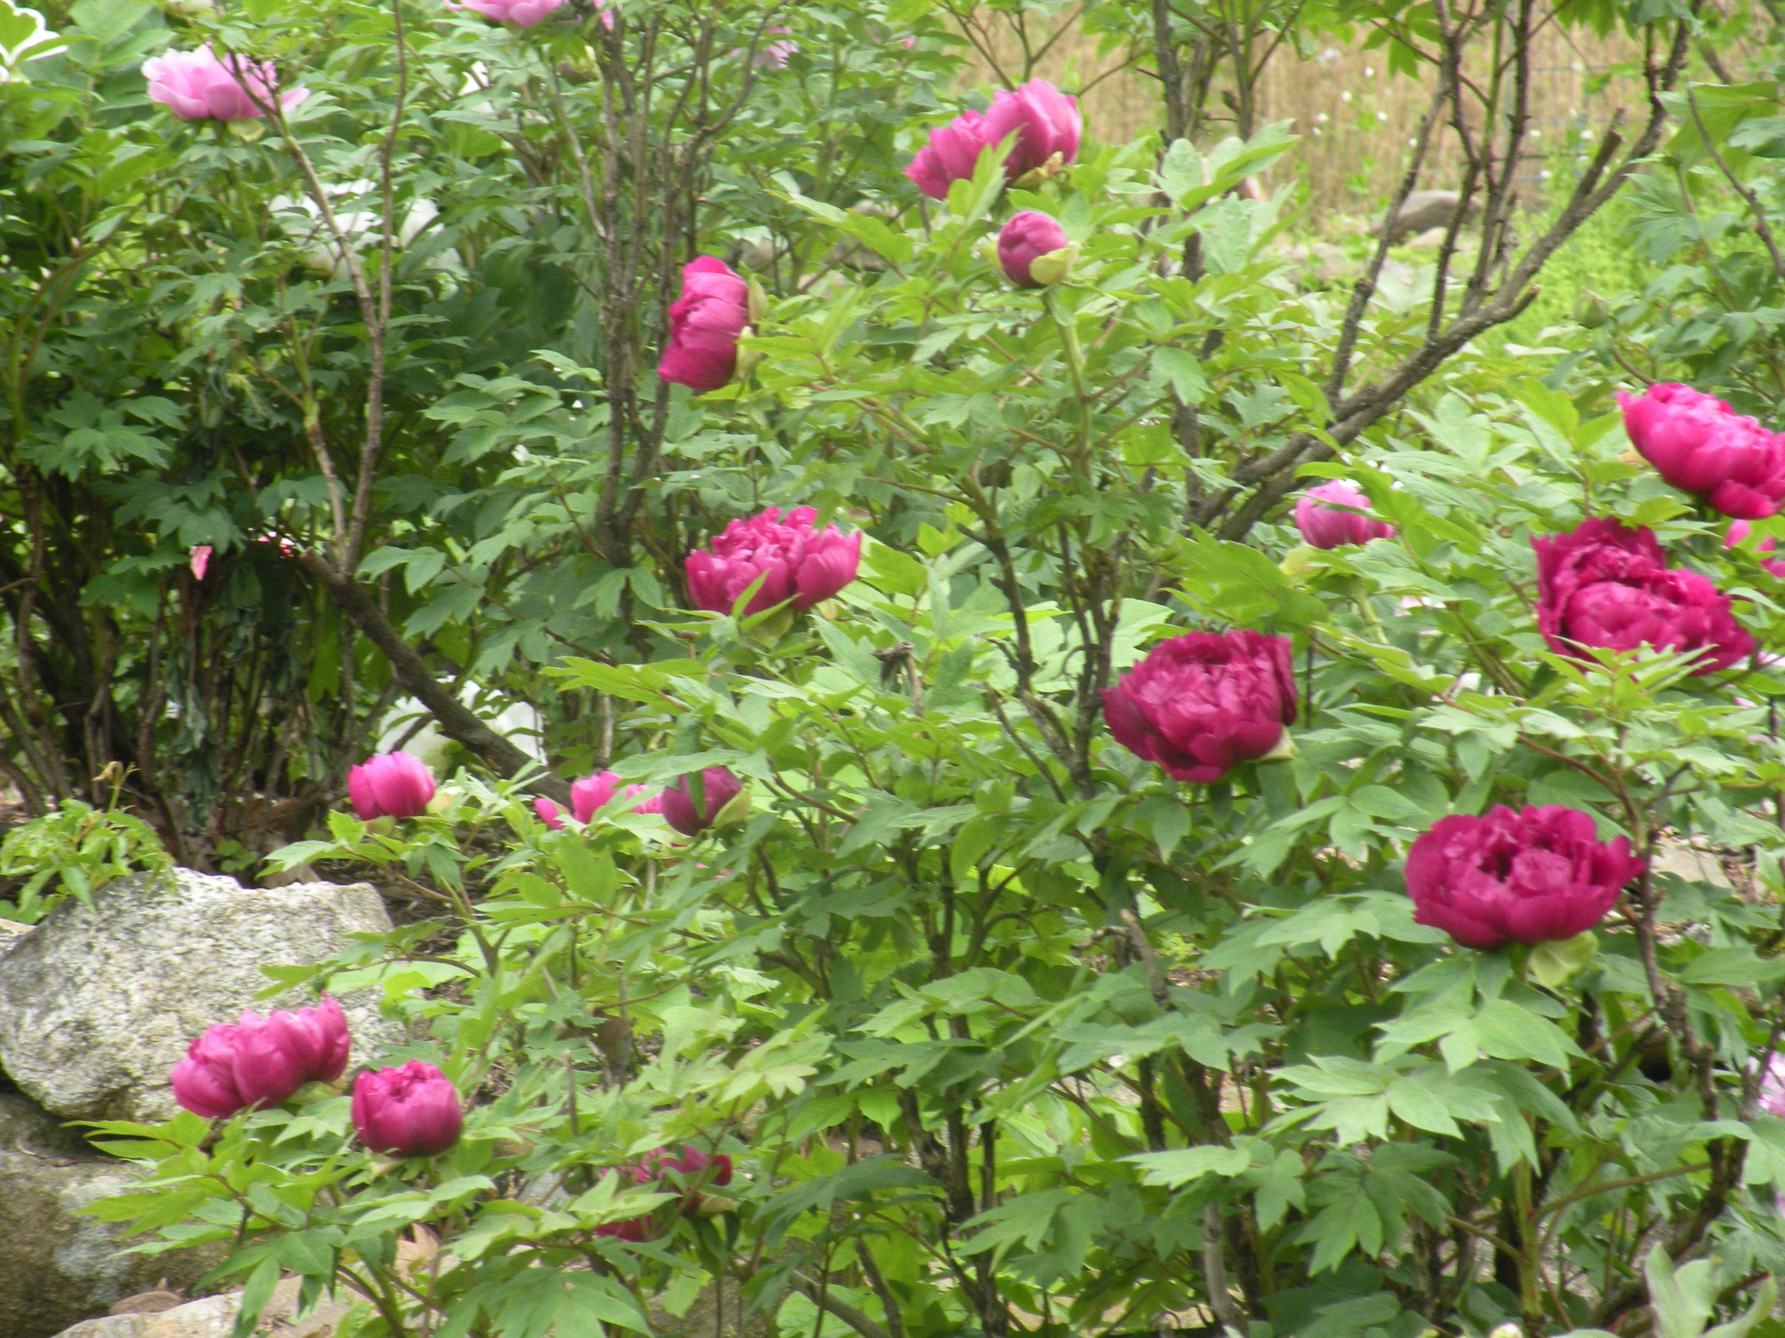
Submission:
M 1537 630 L 1557 655 L 1585 646 L 1696 651 L 1696 674 L 1728 669 L 1755 649 L 1730 612 L 1730 596 L 1692 571 L 1669 571 L 1653 530 L 1612 519 L 1573 533 L 1532 539 L 1537 549 Z

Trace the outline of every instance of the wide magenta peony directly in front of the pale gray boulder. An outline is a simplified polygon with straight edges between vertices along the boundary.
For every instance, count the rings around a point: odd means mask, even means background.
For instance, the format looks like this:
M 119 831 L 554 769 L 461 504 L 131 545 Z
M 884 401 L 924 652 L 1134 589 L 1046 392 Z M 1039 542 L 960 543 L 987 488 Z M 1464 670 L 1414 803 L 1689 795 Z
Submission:
M 277 1106 L 305 1083 L 346 1070 L 346 1015 L 328 995 L 314 1008 L 243 1012 L 205 1028 L 173 1065 L 173 1099 L 195 1115 L 223 1119 L 248 1106 Z

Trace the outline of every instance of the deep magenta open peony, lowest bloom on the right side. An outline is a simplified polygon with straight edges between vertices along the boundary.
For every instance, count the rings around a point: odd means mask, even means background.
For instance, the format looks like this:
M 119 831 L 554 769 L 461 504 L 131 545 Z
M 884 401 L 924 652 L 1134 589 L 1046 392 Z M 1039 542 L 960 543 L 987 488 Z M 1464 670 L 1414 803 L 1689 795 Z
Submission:
M 1642 874 L 1630 838 L 1599 840 L 1590 814 L 1549 805 L 1440 817 L 1407 851 L 1414 919 L 1464 947 L 1585 933 Z

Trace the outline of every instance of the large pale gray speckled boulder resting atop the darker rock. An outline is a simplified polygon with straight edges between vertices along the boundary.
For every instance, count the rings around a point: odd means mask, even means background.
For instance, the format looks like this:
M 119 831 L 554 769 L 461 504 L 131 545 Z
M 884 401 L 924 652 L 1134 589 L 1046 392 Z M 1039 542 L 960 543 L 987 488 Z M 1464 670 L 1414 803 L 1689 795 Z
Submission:
M 121 878 L 91 908 L 66 901 L 0 942 L 0 1069 L 64 1119 L 170 1119 L 168 1070 L 193 1037 L 243 1008 L 305 1003 L 257 1001 L 271 983 L 262 963 L 320 962 L 355 933 L 389 929 L 366 883 L 245 888 L 189 869 Z M 341 995 L 355 1065 L 403 1040 L 377 999 L 377 988 Z

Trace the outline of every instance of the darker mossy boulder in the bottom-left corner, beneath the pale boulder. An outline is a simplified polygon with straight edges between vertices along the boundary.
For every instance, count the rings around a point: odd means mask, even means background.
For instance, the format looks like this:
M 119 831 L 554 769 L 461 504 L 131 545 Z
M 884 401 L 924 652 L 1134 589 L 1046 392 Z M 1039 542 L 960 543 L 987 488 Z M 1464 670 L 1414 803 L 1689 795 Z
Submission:
M 0 1334 L 48 1338 L 162 1279 L 189 1288 L 221 1261 L 216 1251 L 125 1254 L 121 1226 L 79 1213 L 125 1192 L 132 1174 L 0 1090 Z

